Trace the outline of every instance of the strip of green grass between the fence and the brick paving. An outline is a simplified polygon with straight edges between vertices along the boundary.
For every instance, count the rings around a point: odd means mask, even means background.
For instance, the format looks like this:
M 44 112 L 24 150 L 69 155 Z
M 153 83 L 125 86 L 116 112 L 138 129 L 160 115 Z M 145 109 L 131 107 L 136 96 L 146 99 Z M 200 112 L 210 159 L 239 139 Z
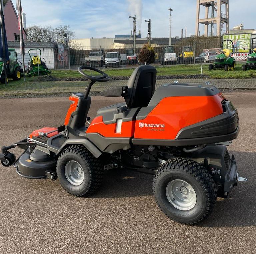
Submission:
M 158 66 L 157 75 L 191 75 L 201 74 L 201 66 L 193 65 L 168 65 Z M 109 76 L 130 76 L 134 69 L 104 69 Z M 89 72 L 87 72 L 89 74 Z M 208 65 L 203 65 L 203 74 L 211 78 L 256 78 L 256 70 L 242 71 L 242 64 L 237 64 L 234 71 L 208 70 Z M 52 70 L 53 77 L 81 77 L 81 74 L 76 70 Z

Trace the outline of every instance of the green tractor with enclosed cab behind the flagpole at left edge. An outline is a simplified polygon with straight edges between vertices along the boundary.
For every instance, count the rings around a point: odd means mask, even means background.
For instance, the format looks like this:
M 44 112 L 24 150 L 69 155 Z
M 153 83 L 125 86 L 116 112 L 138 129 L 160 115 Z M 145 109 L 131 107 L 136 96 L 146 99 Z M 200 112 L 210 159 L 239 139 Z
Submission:
M 13 80 L 19 80 L 21 77 L 21 73 L 23 73 L 21 65 L 18 63 L 17 56 L 15 49 L 8 49 L 9 51 L 9 59 L 10 61 L 6 64 L 6 71 L 7 71 L 7 82 L 9 78 Z M 3 59 L 0 58 L 0 82 L 4 84 L 4 69 L 3 69 Z

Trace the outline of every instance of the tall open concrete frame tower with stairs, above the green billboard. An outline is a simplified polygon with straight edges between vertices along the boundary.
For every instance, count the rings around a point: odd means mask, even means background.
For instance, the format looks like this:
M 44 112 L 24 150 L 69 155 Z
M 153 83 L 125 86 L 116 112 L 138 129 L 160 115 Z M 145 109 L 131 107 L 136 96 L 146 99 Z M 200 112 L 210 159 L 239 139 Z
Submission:
M 225 13 L 221 11 L 221 6 L 225 5 Z M 205 6 L 205 17 L 200 19 L 200 9 Z M 209 13 L 210 12 L 210 13 Z M 204 24 L 204 35 L 208 36 L 208 26 L 211 25 L 211 33 L 213 36 L 213 26 L 217 24 L 216 36 L 223 33 L 224 24 L 226 24 L 226 33 L 229 32 L 229 0 L 197 0 L 196 11 L 196 35 L 199 35 L 199 24 Z

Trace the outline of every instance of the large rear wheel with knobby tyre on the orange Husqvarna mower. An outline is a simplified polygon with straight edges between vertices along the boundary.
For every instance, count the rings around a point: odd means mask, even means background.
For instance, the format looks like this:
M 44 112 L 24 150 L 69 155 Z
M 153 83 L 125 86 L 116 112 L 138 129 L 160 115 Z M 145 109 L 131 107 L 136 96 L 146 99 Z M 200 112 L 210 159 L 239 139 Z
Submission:
M 216 184 L 201 164 L 186 158 L 164 163 L 155 174 L 153 193 L 160 209 L 174 221 L 196 224 L 212 212 Z

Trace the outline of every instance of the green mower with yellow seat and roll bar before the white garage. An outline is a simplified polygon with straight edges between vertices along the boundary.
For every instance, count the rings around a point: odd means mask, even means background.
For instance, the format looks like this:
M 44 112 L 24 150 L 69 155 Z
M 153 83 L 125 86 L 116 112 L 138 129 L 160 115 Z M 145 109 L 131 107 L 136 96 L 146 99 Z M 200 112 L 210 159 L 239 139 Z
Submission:
M 36 55 L 31 57 L 30 52 L 36 50 Z M 39 56 L 37 55 L 39 51 Z M 48 70 L 48 67 L 46 66 L 45 62 L 41 60 L 41 50 L 40 49 L 30 49 L 28 51 L 30 60 L 28 62 L 28 68 L 27 73 L 28 77 L 34 77 L 39 75 L 49 75 L 51 72 Z

